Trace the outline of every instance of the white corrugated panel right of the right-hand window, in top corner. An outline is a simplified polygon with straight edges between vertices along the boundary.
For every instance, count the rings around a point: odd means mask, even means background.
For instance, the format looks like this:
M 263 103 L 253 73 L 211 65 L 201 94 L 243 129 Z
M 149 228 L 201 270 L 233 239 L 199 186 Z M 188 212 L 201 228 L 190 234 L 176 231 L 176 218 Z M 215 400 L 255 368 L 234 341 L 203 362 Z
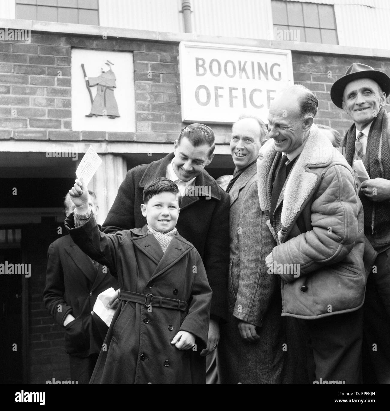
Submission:
M 377 3 L 378 0 L 376 1 Z M 383 2 L 381 2 L 383 3 Z M 335 5 L 337 34 L 341 46 L 390 48 L 390 4 L 384 7 Z

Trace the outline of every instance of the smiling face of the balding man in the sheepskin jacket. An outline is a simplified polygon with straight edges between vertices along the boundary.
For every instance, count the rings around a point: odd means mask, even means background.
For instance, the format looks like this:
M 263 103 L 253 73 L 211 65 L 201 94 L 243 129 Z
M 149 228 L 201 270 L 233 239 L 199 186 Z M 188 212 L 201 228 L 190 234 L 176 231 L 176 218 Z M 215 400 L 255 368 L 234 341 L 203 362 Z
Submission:
M 268 115 L 268 137 L 274 139 L 277 152 L 286 154 L 303 144 L 305 125 L 297 95 L 282 92 L 272 101 Z

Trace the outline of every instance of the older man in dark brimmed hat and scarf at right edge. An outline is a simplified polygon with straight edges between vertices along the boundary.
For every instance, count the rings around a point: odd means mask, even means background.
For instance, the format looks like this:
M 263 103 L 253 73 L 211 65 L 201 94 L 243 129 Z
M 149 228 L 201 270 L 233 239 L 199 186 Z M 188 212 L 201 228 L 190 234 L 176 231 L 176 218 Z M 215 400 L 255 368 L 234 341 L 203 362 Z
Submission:
M 367 282 L 365 338 L 379 383 L 390 383 L 390 121 L 383 108 L 389 93 L 390 78 L 360 63 L 330 90 L 333 103 L 353 120 L 341 143 L 346 160 L 351 166 L 362 160 L 369 175 L 357 186 L 365 235 L 378 253 Z

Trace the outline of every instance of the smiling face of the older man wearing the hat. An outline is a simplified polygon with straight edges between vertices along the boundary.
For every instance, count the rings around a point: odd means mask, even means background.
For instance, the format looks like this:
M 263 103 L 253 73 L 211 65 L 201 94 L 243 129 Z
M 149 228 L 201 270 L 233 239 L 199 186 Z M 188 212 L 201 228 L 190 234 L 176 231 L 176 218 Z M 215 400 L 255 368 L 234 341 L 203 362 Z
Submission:
M 374 80 L 358 79 L 345 86 L 343 109 L 360 131 L 374 120 L 385 102 L 386 95 Z

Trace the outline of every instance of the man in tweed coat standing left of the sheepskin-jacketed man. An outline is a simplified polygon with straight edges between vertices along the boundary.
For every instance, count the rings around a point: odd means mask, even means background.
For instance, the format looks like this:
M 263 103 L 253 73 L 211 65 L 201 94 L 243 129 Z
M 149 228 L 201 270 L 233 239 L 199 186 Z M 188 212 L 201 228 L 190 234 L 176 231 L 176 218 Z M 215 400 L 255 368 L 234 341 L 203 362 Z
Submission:
M 267 274 L 265 257 L 276 245 L 258 203 L 256 161 L 268 134 L 264 123 L 241 116 L 230 142 L 234 176 L 230 194 L 229 319 L 218 346 L 222 384 L 282 383 L 286 342 L 280 280 Z

